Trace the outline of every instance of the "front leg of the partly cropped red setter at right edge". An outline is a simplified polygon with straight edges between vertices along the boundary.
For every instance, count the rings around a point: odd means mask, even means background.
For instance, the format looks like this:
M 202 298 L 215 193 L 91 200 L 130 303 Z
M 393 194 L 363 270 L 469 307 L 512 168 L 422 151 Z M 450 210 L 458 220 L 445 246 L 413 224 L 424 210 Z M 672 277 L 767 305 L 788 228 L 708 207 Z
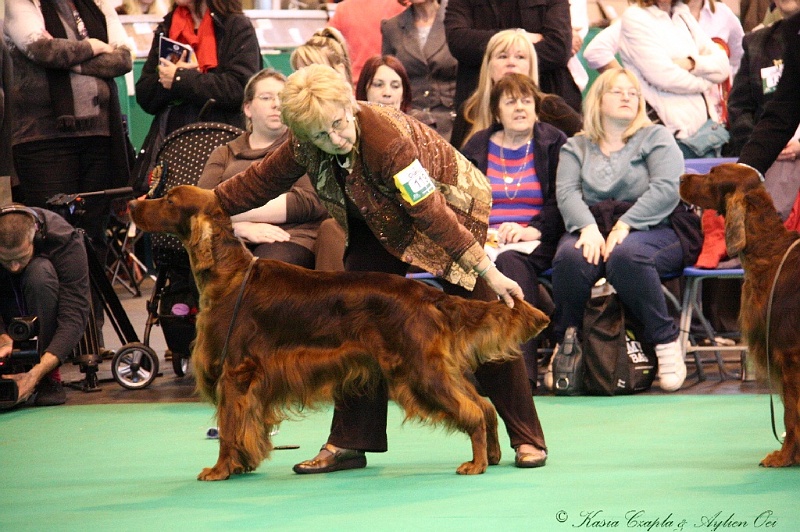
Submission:
M 759 465 L 763 467 L 787 467 L 800 464 L 800 352 L 783 354 L 783 423 L 786 437 L 780 450 L 773 451 Z

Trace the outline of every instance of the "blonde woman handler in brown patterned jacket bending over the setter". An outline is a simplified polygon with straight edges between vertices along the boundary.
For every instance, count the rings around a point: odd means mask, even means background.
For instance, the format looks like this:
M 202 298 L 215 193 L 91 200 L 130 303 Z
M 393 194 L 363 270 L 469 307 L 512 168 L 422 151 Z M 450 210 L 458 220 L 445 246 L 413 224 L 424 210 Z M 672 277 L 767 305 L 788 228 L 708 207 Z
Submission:
M 347 233 L 346 270 L 405 275 L 416 266 L 451 294 L 499 296 L 509 306 L 512 296 L 523 298 L 483 249 L 491 208 L 486 177 L 441 136 L 397 109 L 357 103 L 344 77 L 323 65 L 289 76 L 281 116 L 289 138 L 216 187 L 229 214 L 263 205 L 308 173 Z M 523 360 L 485 364 L 475 377 L 506 423 L 516 465 L 543 466 L 544 435 Z M 337 401 L 328 442 L 295 472 L 365 467 L 365 451 L 386 451 L 386 414 L 385 386 Z

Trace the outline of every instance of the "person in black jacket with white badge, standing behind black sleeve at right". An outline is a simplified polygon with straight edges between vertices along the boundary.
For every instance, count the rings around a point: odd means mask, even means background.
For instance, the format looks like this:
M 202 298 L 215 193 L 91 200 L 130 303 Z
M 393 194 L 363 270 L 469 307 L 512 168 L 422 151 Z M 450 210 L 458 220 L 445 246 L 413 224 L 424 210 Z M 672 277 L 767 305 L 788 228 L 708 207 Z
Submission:
M 776 10 L 783 19 L 800 12 L 798 0 L 776 0 Z M 731 151 L 738 156 L 747 143 L 761 115 L 764 105 L 772 99 L 780 79 L 782 68 L 779 61 L 783 57 L 785 42 L 783 20 L 778 20 L 766 28 L 754 31 L 744 38 L 744 59 L 733 80 L 728 114 L 730 118 Z M 791 212 L 797 195 L 797 176 L 800 175 L 800 130 L 778 155 L 764 175 L 765 186 L 772 195 L 775 208 L 783 219 Z

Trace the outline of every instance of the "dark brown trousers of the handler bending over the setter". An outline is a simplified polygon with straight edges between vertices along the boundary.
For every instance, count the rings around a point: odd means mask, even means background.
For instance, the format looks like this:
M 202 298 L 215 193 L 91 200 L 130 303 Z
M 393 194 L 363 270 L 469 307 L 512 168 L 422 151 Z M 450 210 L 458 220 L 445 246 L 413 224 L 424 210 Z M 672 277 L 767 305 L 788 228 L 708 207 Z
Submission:
M 405 275 L 408 265 L 391 255 L 361 220 L 348 220 L 350 245 L 345 253 L 348 271 L 380 271 Z M 441 281 L 445 292 L 461 297 L 491 301 L 496 295 L 479 279 L 472 292 Z M 525 362 L 517 358 L 503 364 L 484 364 L 475 372 L 481 389 L 506 425 L 511 446 L 533 444 L 547 449 L 539 423 Z M 388 393 L 383 383 L 375 394 L 344 398 L 336 403 L 328 442 L 345 449 L 385 452 Z

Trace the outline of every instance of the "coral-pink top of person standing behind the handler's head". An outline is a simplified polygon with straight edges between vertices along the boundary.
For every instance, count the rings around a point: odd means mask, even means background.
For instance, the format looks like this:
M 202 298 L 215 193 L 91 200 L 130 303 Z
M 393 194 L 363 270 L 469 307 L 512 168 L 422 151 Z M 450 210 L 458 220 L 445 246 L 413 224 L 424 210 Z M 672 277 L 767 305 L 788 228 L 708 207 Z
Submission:
M 380 55 L 383 45 L 381 20 L 405 10 L 397 0 L 343 0 L 328 21 L 344 35 L 353 61 L 353 84 L 358 83 L 361 68 L 367 59 Z

